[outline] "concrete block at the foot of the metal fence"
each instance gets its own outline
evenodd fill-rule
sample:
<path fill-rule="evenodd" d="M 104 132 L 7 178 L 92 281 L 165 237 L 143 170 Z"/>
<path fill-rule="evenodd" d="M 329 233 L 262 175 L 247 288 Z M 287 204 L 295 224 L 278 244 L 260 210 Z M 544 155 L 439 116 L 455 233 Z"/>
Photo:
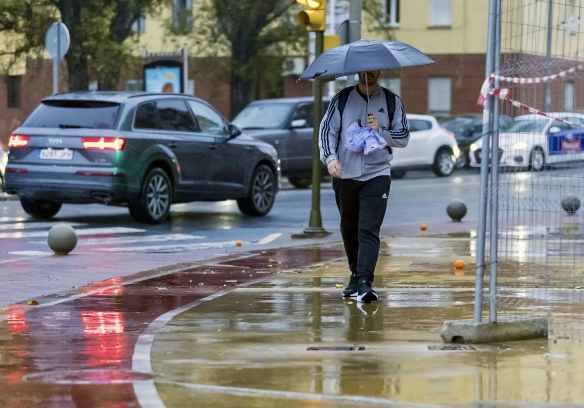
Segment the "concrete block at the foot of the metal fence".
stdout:
<path fill-rule="evenodd" d="M 445 343 L 499 343 L 547 337 L 548 320 L 542 317 L 503 316 L 497 322 L 449 320 L 440 336 Z"/>

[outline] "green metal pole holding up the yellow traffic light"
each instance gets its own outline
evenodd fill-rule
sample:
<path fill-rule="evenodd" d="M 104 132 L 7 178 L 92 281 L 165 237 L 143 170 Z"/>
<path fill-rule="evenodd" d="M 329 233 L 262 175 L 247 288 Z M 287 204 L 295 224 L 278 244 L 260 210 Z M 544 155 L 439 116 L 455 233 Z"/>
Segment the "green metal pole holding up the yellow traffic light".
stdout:
<path fill-rule="evenodd" d="M 317 58 L 322 54 L 324 47 L 324 31 L 315 31 L 315 34 L 314 57 Z M 312 131 L 312 209 L 310 221 L 308 227 L 304 229 L 304 234 L 314 237 L 329 234 L 322 227 L 321 217 L 322 164 L 321 153 L 318 149 L 318 131 L 322 119 L 322 81 L 320 79 L 315 79 L 312 82 L 312 94 L 314 95 L 314 103 L 312 104 L 312 122 L 314 123 Z"/>

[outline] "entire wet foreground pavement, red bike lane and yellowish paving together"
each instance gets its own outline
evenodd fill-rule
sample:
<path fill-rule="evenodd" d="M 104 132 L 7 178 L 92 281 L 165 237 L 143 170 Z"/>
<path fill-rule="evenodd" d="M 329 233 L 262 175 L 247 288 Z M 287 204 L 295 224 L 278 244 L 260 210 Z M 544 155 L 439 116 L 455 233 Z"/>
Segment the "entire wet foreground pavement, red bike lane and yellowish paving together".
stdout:
<path fill-rule="evenodd" d="M 444 344 L 444 321 L 472 318 L 475 243 L 433 232 L 383 239 L 374 304 L 342 298 L 339 242 L 165 258 L 116 277 L 96 264 L 95 283 L 0 309 L 0 407 L 584 404 L 584 291 L 513 286 L 524 276 L 501 265 L 502 296 L 548 316 L 548 339 Z M 56 265 L 79 268 L 73 255 L 12 267 Z"/>

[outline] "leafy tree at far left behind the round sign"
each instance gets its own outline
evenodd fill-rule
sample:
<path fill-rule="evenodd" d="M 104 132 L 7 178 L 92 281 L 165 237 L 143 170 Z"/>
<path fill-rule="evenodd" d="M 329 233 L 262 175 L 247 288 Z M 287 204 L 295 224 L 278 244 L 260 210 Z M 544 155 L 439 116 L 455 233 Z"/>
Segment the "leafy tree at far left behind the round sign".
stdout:
<path fill-rule="evenodd" d="M 144 10 L 154 10 L 166 0 L 2 0 L 0 31 L 12 39 L 0 55 L 16 61 L 22 55 L 41 55 L 44 34 L 61 20 L 71 33 L 65 55 L 69 89 L 86 90 L 89 80 L 100 88 L 114 89 L 130 50 L 126 39 Z M 60 17 L 60 18 L 59 18 Z"/>

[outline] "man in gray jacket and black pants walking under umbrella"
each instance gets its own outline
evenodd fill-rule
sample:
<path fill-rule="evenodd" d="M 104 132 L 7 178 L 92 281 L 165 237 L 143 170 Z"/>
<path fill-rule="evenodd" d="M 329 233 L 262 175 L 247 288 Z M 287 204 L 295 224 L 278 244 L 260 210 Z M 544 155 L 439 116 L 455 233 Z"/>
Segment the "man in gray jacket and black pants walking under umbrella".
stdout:
<path fill-rule="evenodd" d="M 378 300 L 371 284 L 379 255 L 379 231 L 390 192 L 391 147 L 405 147 L 409 142 L 401 99 L 389 93 L 395 98 L 395 104 L 388 103 L 387 90 L 377 83 L 380 72 L 359 72 L 359 83 L 350 92 L 340 91 L 333 97 L 322 119 L 318 138 L 321 160 L 333 177 L 340 233 L 351 272 L 343 296 L 356 296 L 358 302 L 364 303 Z M 393 105 L 395 109 L 390 112 Z M 359 121 L 379 132 L 388 149 L 369 154 L 347 149 L 347 128 Z"/>

